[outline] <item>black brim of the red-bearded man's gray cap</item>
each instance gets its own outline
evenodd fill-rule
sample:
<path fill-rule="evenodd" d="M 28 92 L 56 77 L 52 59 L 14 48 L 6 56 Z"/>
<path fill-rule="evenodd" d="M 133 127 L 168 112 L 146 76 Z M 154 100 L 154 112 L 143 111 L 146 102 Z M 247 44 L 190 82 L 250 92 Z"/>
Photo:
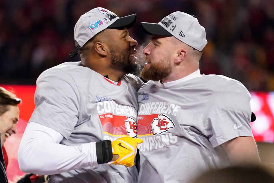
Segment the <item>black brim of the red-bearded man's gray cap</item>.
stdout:
<path fill-rule="evenodd" d="M 141 26 L 143 31 L 149 35 L 162 35 L 162 36 L 173 36 L 169 33 L 164 27 L 159 25 L 158 23 L 148 23 L 148 22 L 141 22 Z"/>

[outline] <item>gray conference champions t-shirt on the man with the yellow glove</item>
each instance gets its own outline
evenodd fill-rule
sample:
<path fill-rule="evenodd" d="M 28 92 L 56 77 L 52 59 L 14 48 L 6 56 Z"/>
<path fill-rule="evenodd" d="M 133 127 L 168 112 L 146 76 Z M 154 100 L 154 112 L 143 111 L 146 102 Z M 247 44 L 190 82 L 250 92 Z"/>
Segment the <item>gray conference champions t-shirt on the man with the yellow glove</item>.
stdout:
<path fill-rule="evenodd" d="M 64 136 L 60 144 L 136 137 L 137 91 L 144 83 L 126 74 L 117 85 L 80 62 L 66 62 L 44 71 L 37 79 L 35 110 L 29 122 Z M 64 156 L 66 156 L 64 154 Z M 137 182 L 136 167 L 100 164 L 51 175 L 49 182 Z"/>

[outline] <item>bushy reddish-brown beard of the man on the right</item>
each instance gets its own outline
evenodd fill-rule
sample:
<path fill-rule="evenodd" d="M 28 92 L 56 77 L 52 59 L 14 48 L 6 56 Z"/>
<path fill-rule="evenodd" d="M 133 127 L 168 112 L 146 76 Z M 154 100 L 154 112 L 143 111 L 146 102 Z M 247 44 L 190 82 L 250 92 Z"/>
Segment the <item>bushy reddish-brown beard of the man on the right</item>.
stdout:
<path fill-rule="evenodd" d="M 161 59 L 159 62 L 150 63 L 149 67 L 144 67 L 141 76 L 142 78 L 153 81 L 159 81 L 168 77 L 172 72 L 171 62 L 167 59 Z"/>

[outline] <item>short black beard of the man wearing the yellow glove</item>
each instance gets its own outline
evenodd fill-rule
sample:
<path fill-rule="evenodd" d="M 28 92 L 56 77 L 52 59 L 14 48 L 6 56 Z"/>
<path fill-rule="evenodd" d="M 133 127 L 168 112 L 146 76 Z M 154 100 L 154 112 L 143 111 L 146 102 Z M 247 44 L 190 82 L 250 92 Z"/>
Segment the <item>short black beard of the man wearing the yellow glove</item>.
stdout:
<path fill-rule="evenodd" d="M 111 53 L 111 66 L 120 71 L 131 74 L 138 74 L 141 70 L 139 63 L 132 63 L 129 57 L 118 50 L 110 50 Z"/>

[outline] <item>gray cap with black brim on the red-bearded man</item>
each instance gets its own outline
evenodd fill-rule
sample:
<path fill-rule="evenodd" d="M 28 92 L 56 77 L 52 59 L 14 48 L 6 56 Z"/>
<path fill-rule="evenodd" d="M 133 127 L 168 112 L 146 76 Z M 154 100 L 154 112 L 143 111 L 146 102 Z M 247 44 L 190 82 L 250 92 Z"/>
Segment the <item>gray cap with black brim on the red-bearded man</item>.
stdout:
<path fill-rule="evenodd" d="M 174 36 L 187 45 L 202 51 L 207 44 L 206 31 L 197 18 L 176 11 L 164 17 L 159 23 L 141 23 L 147 34 Z"/>

